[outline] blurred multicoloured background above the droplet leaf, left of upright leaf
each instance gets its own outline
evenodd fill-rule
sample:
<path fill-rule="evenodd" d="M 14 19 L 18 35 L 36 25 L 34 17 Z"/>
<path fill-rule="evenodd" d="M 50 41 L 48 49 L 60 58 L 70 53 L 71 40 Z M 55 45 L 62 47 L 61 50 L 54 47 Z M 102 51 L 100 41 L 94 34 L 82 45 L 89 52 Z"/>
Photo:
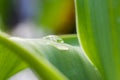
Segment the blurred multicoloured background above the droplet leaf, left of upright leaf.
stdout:
<path fill-rule="evenodd" d="M 74 0 L 0 0 L 0 28 L 26 38 L 76 33 Z"/>

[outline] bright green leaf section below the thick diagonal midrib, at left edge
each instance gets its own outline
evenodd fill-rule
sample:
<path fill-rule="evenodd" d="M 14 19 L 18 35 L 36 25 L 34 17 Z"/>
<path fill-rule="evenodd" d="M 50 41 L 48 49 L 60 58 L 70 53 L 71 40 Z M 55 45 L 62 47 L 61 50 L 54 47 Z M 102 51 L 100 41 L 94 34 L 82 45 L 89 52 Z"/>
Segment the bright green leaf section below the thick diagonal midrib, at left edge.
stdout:
<path fill-rule="evenodd" d="M 0 45 L 0 80 L 6 80 L 26 67 L 27 65 L 8 47 Z"/>

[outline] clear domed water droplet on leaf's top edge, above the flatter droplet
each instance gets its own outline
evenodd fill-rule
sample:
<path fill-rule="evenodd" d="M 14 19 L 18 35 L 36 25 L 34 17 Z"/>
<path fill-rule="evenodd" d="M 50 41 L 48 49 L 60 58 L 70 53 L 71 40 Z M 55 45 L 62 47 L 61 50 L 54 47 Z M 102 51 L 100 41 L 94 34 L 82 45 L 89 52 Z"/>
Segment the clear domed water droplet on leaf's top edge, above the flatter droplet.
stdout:
<path fill-rule="evenodd" d="M 55 35 L 46 36 L 46 37 L 43 37 L 43 39 L 46 39 L 52 42 L 57 42 L 57 43 L 64 43 L 62 38 L 60 38 L 59 36 L 55 36 Z"/>

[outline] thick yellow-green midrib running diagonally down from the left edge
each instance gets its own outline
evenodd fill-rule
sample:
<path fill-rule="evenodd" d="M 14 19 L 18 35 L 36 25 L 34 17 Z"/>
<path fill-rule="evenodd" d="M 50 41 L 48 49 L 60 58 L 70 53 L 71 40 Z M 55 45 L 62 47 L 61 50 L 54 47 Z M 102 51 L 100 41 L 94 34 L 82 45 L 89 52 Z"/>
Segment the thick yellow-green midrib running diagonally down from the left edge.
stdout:
<path fill-rule="evenodd" d="M 18 45 L 17 40 L 21 44 Z M 41 54 L 39 54 L 39 56 L 36 49 L 34 50 L 34 47 L 30 47 L 31 44 L 28 44 L 27 41 L 19 38 L 16 38 L 15 41 L 16 42 L 13 42 L 11 39 L 0 35 L 0 44 L 7 46 L 14 54 L 17 54 L 23 60 L 28 62 L 31 68 L 33 68 L 43 80 L 67 80 L 67 78 L 52 66 L 48 60 L 41 56 Z M 24 42 L 26 42 L 26 44 Z"/>

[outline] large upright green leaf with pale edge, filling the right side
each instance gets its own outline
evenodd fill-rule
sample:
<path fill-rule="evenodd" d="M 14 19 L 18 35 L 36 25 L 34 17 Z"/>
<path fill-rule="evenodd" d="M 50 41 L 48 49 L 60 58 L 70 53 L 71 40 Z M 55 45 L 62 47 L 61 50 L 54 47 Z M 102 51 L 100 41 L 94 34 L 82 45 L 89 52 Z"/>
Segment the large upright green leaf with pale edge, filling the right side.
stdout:
<path fill-rule="evenodd" d="M 80 44 L 104 80 L 120 80 L 120 0 L 76 0 Z"/>

